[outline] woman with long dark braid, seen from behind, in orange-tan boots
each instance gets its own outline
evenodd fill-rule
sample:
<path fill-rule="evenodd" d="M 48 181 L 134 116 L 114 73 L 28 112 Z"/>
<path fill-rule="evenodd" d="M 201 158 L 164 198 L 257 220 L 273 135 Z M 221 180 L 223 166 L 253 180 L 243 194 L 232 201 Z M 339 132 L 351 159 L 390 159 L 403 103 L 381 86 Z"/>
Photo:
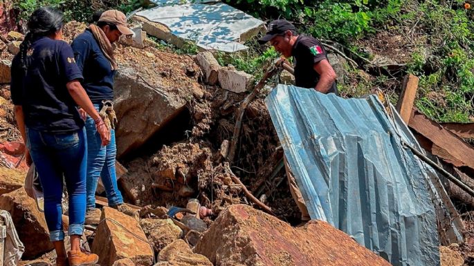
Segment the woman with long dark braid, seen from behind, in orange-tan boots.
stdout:
<path fill-rule="evenodd" d="M 82 73 L 73 50 L 62 41 L 63 17 L 53 8 L 39 8 L 28 21 L 28 33 L 12 61 L 11 94 L 17 124 L 44 192 L 44 216 L 54 244 L 57 265 L 97 263 L 98 256 L 80 250 L 86 210 L 86 135 L 80 106 L 93 117 L 102 145 L 110 132 L 80 84 Z M 71 251 L 64 249 L 63 177 L 69 193 Z"/>

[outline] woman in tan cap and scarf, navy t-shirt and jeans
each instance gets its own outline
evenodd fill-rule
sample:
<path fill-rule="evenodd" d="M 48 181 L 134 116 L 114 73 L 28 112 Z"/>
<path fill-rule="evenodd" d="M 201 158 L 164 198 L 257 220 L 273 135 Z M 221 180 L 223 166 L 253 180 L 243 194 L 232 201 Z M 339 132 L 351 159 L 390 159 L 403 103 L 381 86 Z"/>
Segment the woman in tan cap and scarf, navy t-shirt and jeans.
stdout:
<path fill-rule="evenodd" d="M 86 224 L 89 225 L 97 225 L 100 222 L 100 210 L 95 209 L 95 189 L 99 177 L 104 184 L 109 206 L 131 216 L 136 214 L 136 211 L 123 204 L 122 194 L 117 187 L 114 131 L 116 117 L 112 104 L 113 77 L 117 70 L 112 44 L 118 41 L 121 35 L 132 34 L 122 12 L 107 10 L 100 15 L 96 24 L 91 24 L 72 44 L 75 61 L 84 76 L 82 86 L 95 109 L 111 128 L 111 141 L 107 146 L 102 146 L 93 120 L 83 113 L 87 134 Z"/>

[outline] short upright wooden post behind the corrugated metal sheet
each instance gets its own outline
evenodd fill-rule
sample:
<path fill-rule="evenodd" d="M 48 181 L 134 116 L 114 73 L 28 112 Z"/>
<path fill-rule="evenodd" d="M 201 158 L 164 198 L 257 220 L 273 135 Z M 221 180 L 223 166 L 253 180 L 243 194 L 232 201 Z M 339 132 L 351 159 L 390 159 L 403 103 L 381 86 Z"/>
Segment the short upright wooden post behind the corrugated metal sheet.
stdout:
<path fill-rule="evenodd" d="M 414 97 L 417 96 L 419 77 L 409 74 L 403 79 L 403 87 L 399 102 L 396 104 L 396 111 L 399 112 L 401 119 L 408 124 L 414 104 Z"/>

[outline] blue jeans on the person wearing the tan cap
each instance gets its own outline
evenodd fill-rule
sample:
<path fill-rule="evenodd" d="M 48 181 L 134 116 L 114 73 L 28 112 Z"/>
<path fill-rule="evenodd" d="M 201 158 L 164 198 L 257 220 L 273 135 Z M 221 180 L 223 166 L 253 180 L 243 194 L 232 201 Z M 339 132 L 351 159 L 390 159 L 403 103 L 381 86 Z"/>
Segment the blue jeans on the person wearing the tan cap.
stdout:
<path fill-rule="evenodd" d="M 99 111 L 99 105 L 94 104 Z M 115 161 L 117 146 L 115 142 L 115 131 L 111 130 L 110 143 L 102 146 L 100 135 L 95 129 L 94 120 L 88 115 L 86 119 L 87 133 L 87 209 L 95 208 L 95 189 L 99 182 L 99 176 L 104 184 L 105 193 L 109 206 L 113 207 L 123 203 L 122 193 L 117 187 Z"/>

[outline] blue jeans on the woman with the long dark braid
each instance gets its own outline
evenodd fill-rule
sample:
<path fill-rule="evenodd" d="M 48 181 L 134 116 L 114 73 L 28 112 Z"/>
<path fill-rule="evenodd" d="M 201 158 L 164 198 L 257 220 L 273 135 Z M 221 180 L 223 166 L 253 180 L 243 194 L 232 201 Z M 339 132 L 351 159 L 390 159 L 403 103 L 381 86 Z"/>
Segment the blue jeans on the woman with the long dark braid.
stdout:
<path fill-rule="evenodd" d="M 46 133 L 26 129 L 26 146 L 35 163 L 44 193 L 44 217 L 51 241 L 64 239 L 63 176 L 69 193 L 69 235 L 82 235 L 86 216 L 86 134 Z"/>

